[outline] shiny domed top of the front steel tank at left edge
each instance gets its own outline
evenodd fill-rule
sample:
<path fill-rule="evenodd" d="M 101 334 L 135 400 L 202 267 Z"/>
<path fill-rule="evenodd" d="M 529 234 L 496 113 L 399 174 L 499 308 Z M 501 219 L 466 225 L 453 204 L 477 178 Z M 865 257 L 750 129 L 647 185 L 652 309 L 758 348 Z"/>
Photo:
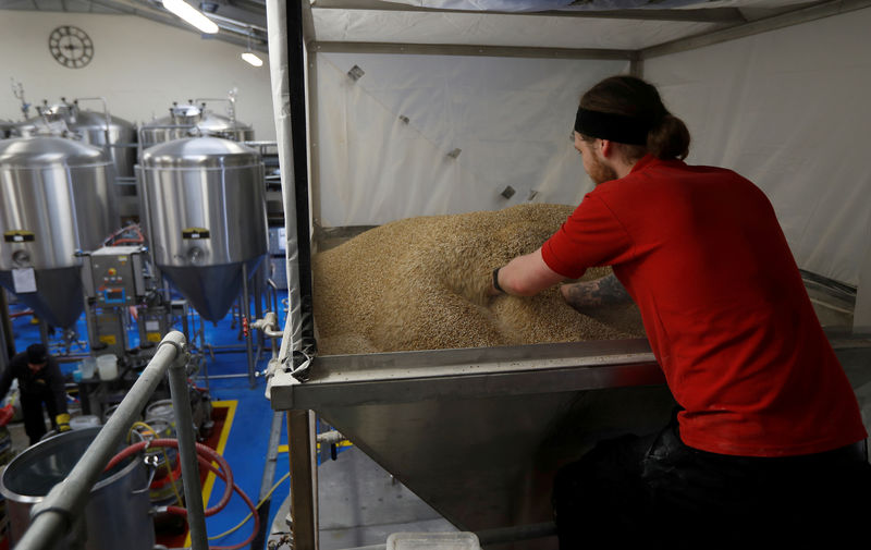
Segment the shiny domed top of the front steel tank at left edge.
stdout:
<path fill-rule="evenodd" d="M 109 164 L 103 150 L 63 137 L 15 137 L 0 142 L 0 166 L 39 168 L 62 164 L 71 168 Z"/>

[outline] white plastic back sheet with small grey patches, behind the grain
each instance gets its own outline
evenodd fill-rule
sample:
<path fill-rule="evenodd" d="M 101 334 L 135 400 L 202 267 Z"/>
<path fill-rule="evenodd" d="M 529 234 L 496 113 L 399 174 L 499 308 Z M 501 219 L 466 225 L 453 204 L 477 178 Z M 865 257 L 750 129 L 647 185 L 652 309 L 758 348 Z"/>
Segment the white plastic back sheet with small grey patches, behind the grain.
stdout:
<path fill-rule="evenodd" d="M 578 204 L 592 184 L 574 149 L 578 94 L 619 61 L 319 54 L 323 227 Z M 365 74 L 354 82 L 354 65 Z M 407 118 L 404 122 L 401 117 Z M 456 158 L 450 156 L 459 149 Z M 456 155 L 456 154 L 455 154 Z M 505 199 L 511 186 L 516 194 Z"/>

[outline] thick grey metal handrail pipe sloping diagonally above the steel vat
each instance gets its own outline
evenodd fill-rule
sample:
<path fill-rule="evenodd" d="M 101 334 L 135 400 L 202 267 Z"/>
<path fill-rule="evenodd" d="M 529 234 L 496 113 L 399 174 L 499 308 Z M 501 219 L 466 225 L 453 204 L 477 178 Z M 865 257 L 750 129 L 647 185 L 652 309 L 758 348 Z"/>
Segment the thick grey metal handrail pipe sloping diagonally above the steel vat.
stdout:
<path fill-rule="evenodd" d="M 118 451 L 134 419 L 145 408 L 170 363 L 180 357 L 184 343 L 184 337 L 177 331 L 163 338 L 148 366 L 66 479 L 56 485 L 41 502 L 34 505 L 30 511 L 30 527 L 19 541 L 16 550 L 46 550 L 70 531 L 75 517 L 85 508 L 91 487 Z"/>

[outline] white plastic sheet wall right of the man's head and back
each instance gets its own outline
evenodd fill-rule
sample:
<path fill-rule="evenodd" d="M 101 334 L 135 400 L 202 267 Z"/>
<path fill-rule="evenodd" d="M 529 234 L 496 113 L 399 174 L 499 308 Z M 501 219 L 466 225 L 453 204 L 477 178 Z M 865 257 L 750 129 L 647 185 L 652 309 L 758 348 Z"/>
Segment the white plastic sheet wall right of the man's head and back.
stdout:
<path fill-rule="evenodd" d="M 689 161 L 771 198 L 798 265 L 859 280 L 869 239 L 871 10 L 645 63 L 689 125 Z"/>

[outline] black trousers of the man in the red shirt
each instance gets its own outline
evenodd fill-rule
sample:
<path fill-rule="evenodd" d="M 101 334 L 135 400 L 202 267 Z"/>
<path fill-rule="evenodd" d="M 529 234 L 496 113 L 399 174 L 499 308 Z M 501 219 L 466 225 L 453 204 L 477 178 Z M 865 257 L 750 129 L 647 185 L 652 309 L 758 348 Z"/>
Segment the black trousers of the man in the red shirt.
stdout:
<path fill-rule="evenodd" d="M 560 548 L 869 548 L 863 445 L 728 456 L 685 445 L 676 421 L 602 441 L 554 480 Z"/>

